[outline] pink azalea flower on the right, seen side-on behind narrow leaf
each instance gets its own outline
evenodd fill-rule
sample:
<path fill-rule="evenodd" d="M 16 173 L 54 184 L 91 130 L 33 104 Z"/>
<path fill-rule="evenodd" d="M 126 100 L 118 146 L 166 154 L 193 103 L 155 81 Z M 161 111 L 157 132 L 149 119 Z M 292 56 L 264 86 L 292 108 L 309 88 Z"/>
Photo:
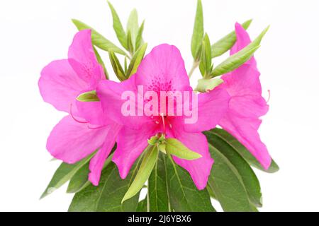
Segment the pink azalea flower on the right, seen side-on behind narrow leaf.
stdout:
<path fill-rule="evenodd" d="M 237 42 L 230 54 L 235 54 L 251 42 L 246 30 L 239 23 L 236 23 L 235 31 Z M 218 88 L 227 90 L 231 99 L 228 112 L 219 125 L 245 145 L 262 167 L 268 169 L 272 158 L 257 131 L 262 122 L 259 117 L 266 114 L 269 108 L 262 97 L 259 75 L 256 61 L 252 57 L 240 68 L 222 76 L 224 83 Z"/>

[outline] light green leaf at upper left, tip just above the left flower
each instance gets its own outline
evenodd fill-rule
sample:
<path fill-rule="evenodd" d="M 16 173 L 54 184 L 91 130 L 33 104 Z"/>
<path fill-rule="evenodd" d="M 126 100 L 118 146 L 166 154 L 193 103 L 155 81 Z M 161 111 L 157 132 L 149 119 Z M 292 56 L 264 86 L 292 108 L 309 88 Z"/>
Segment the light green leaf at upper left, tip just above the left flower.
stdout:
<path fill-rule="evenodd" d="M 107 52 L 111 51 L 111 52 L 116 52 L 118 54 L 126 55 L 122 49 L 117 47 L 110 40 L 107 40 L 105 37 L 99 34 L 99 32 L 96 32 L 96 30 L 91 28 L 89 25 L 86 25 L 85 23 L 76 19 L 72 19 L 72 22 L 74 23 L 74 25 L 77 26 L 77 29 L 79 30 L 85 30 L 85 29 L 91 30 L 92 44 L 94 44 L 96 47 L 99 47 L 100 49 L 103 49 Z"/>

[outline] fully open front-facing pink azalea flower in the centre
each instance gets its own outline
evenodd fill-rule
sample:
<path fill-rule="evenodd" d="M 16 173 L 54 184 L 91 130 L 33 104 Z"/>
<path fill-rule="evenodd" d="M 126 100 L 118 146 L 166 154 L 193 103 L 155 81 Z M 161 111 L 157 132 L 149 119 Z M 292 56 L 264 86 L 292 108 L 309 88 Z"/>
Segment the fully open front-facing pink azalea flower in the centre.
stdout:
<path fill-rule="evenodd" d="M 124 116 L 121 112 L 125 100 L 121 95 L 125 91 L 138 93 L 138 85 L 143 90 L 186 91 L 191 90 L 189 78 L 185 71 L 184 61 L 179 50 L 168 44 L 162 44 L 142 60 L 138 71 L 122 83 L 101 81 L 96 92 L 102 102 L 104 112 L 123 129 L 118 134 L 118 148 L 113 162 L 118 166 L 121 178 L 125 178 L 133 162 L 147 147 L 147 139 L 157 133 L 166 137 L 177 138 L 187 148 L 199 153 L 197 160 L 181 160 L 173 157 L 178 165 L 191 174 L 198 189 L 204 189 L 211 172 L 213 159 L 208 152 L 206 137 L 201 131 L 212 129 L 218 124 L 228 109 L 229 95 L 225 90 L 213 90 L 198 95 L 198 120 L 194 124 L 185 124 L 185 117 L 177 116 Z M 136 107 L 138 111 L 138 106 Z"/>

